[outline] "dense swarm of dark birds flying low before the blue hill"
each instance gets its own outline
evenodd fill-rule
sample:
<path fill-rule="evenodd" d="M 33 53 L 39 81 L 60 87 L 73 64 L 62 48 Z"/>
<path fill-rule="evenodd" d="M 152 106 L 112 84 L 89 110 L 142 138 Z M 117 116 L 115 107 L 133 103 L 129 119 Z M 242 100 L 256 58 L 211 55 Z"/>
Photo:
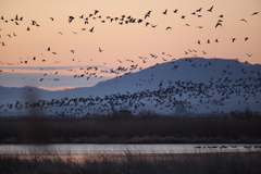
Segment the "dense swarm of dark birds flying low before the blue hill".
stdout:
<path fill-rule="evenodd" d="M 186 64 L 175 65 L 175 62 L 169 63 L 169 69 L 178 71 L 179 69 L 198 70 L 196 67 L 212 70 L 215 61 L 203 60 L 203 64 L 194 62 L 194 59 L 185 59 Z M 175 111 L 177 107 L 183 107 L 185 110 L 197 112 L 199 107 L 206 107 L 210 113 L 225 113 L 222 108 L 229 99 L 234 99 L 237 104 L 247 104 L 256 102 L 259 104 L 261 94 L 261 73 L 260 71 L 249 71 L 238 61 L 229 61 L 231 64 L 224 64 L 223 70 L 220 70 L 217 77 L 209 78 L 208 83 L 196 83 L 192 80 L 162 80 L 158 84 L 158 89 L 144 89 L 136 92 L 116 92 L 112 95 L 89 96 L 79 98 L 62 98 L 51 100 L 39 100 L 36 102 L 20 102 L 15 104 L 2 104 L 0 111 L 8 112 L 9 110 L 25 111 L 39 109 L 48 111 L 51 115 L 90 115 L 90 114 L 108 114 L 116 110 L 132 111 L 134 114 L 146 105 L 152 104 L 154 109 Z M 217 63 L 217 62 L 216 62 Z M 234 64 L 241 65 L 241 70 L 231 70 Z M 161 65 L 159 65 L 161 66 Z M 175 70 L 173 67 L 175 66 Z M 152 69 L 152 67 L 151 67 Z M 162 69 L 161 69 L 162 70 Z M 214 70 L 213 70 L 214 71 Z M 153 74 L 151 74 L 153 75 Z M 233 76 L 234 75 L 234 76 Z M 235 76 L 237 78 L 235 78 Z M 239 78 L 238 78 L 239 76 Z M 119 79 L 121 80 L 121 79 Z M 139 79 L 141 83 L 148 84 L 153 80 L 153 76 L 148 77 L 148 82 Z M 238 100 L 238 101 L 236 101 Z M 195 103 L 197 103 L 195 105 Z M 213 109 L 213 105 L 216 109 Z M 149 112 L 148 112 L 149 114 Z"/>

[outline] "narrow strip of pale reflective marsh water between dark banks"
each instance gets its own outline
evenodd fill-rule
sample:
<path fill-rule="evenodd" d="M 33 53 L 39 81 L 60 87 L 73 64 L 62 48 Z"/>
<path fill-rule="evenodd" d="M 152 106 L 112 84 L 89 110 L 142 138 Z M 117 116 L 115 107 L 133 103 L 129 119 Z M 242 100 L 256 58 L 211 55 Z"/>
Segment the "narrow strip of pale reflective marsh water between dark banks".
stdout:
<path fill-rule="evenodd" d="M 249 152 L 261 151 L 261 145 L 247 144 L 52 144 L 52 145 L 0 145 L 2 154 L 29 153 L 197 153 L 197 152 Z"/>

